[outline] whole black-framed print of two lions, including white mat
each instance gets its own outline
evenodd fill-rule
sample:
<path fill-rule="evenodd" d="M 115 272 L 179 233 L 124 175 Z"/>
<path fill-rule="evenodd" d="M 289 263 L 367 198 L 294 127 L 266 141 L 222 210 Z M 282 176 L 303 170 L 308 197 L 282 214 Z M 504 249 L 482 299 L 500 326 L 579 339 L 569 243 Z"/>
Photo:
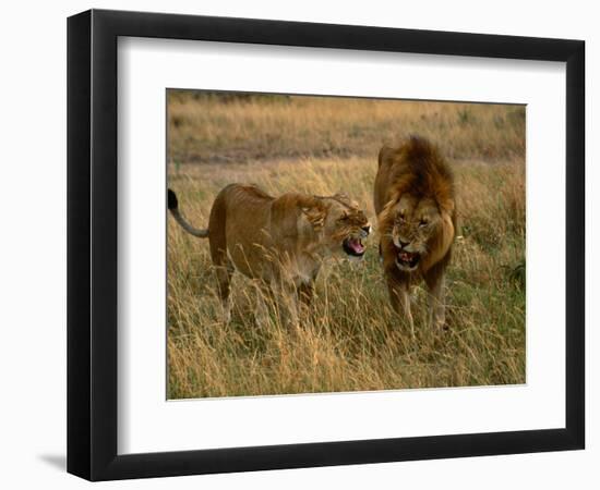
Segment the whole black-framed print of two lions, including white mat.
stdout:
<path fill-rule="evenodd" d="M 578 40 L 68 23 L 68 470 L 584 448 Z"/>

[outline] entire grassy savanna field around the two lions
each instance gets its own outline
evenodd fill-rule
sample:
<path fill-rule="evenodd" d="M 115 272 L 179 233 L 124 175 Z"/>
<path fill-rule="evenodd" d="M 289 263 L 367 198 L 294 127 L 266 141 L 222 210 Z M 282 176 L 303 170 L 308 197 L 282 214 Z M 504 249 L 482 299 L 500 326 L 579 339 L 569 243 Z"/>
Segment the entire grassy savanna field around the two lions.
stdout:
<path fill-rule="evenodd" d="M 416 340 L 389 309 L 376 234 L 361 262 L 326 265 L 303 328 L 254 319 L 257 291 L 233 280 L 225 326 L 208 242 L 168 222 L 170 399 L 525 382 L 525 110 L 516 106 L 314 97 L 228 98 L 170 91 L 169 186 L 205 226 L 232 182 L 266 192 L 344 191 L 375 217 L 372 187 L 383 143 L 420 134 L 457 182 L 459 236 L 448 269 L 447 331 Z"/>

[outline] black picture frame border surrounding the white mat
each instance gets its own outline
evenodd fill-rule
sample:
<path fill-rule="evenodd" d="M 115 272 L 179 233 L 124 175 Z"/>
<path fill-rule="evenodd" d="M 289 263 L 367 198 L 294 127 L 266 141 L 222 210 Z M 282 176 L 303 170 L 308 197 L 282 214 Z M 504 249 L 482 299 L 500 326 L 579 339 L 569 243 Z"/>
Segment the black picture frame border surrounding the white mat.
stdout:
<path fill-rule="evenodd" d="M 117 454 L 119 36 L 566 62 L 564 428 Z M 92 10 L 68 20 L 68 471 L 89 480 L 584 449 L 585 42 Z"/>

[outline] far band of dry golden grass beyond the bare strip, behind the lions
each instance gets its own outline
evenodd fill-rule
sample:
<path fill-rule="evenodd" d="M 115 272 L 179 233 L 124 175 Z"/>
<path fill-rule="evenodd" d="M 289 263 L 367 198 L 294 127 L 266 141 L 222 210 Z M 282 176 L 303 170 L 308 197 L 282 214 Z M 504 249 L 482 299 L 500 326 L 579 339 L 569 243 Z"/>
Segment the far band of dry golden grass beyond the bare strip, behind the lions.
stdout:
<path fill-rule="evenodd" d="M 335 97 L 227 99 L 169 96 L 169 160 L 240 162 L 275 158 L 371 157 L 417 133 L 449 158 L 525 155 L 525 108 Z M 473 131 L 477 130 L 477 131 Z"/>

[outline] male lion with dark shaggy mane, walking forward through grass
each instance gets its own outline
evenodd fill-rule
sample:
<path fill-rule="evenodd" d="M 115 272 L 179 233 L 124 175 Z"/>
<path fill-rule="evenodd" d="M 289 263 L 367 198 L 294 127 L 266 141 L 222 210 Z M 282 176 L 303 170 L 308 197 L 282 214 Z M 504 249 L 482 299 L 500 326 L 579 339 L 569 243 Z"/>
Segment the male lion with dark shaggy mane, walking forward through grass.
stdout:
<path fill-rule="evenodd" d="M 444 275 L 456 233 L 454 179 L 439 150 L 412 136 L 384 146 L 375 177 L 380 253 L 393 308 L 415 335 L 410 285 L 423 279 L 430 292 L 428 323 L 445 323 Z"/>

